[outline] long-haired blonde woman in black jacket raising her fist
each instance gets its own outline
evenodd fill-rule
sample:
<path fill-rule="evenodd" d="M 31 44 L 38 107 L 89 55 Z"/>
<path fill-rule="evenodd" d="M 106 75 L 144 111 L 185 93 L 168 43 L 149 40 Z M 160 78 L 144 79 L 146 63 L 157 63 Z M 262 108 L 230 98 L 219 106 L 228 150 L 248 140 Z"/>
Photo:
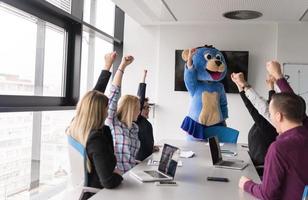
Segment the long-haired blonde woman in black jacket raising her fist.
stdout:
<path fill-rule="evenodd" d="M 103 71 L 109 71 L 115 57 L 115 52 L 105 55 Z M 114 188 L 123 180 L 116 170 L 111 131 L 104 125 L 108 112 L 108 98 L 103 94 L 107 78 L 102 72 L 96 90 L 87 92 L 78 102 L 76 116 L 66 130 L 66 134 L 85 147 L 88 157 L 86 186 L 95 188 Z M 83 199 L 89 196 L 86 194 Z"/>

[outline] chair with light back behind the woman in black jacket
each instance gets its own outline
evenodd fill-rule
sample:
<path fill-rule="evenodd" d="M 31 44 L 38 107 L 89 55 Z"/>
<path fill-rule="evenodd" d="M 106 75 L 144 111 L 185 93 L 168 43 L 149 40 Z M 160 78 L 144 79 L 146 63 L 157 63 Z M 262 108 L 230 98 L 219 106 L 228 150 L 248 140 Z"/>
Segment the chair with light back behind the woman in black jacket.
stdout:
<path fill-rule="evenodd" d="M 70 199 L 82 199 L 82 196 L 86 192 L 97 193 L 100 189 L 86 187 L 87 185 L 87 156 L 85 148 L 73 137 L 67 136 L 68 139 L 68 152 L 71 165 L 70 183 L 74 198 Z M 76 198 L 77 197 L 77 198 Z"/>

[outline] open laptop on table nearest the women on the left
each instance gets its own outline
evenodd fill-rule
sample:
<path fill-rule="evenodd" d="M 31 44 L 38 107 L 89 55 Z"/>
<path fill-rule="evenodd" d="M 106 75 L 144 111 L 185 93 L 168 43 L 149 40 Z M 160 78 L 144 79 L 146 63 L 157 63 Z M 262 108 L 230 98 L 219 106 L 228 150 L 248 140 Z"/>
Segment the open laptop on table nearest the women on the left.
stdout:
<path fill-rule="evenodd" d="M 142 182 L 170 181 L 175 176 L 178 165 L 179 149 L 164 144 L 158 170 L 131 170 L 130 174 Z"/>

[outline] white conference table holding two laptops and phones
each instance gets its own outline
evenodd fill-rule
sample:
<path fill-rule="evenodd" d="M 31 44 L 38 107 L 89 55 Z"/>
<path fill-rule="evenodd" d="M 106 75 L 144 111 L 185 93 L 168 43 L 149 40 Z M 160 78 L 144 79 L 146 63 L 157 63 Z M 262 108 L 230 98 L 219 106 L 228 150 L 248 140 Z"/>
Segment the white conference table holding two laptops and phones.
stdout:
<path fill-rule="evenodd" d="M 223 144 L 221 149 L 228 149 L 237 152 L 236 156 L 223 159 L 243 160 L 249 165 L 243 170 L 216 168 L 212 164 L 210 149 L 207 143 L 197 141 L 166 140 L 160 144 L 170 144 L 181 149 L 181 151 L 193 151 L 192 158 L 180 158 L 182 166 L 178 166 L 174 181 L 177 186 L 157 186 L 155 183 L 142 183 L 133 177 L 129 172 L 123 175 L 122 184 L 115 189 L 102 189 L 95 194 L 91 200 L 246 200 L 256 199 L 238 187 L 241 176 L 247 176 L 256 182 L 260 178 L 248 155 L 247 148 L 240 144 Z M 149 166 L 148 160 L 160 159 L 160 152 L 152 154 L 146 160 L 131 170 L 157 169 L 158 166 Z M 207 181 L 208 176 L 226 177 L 229 182 Z"/>

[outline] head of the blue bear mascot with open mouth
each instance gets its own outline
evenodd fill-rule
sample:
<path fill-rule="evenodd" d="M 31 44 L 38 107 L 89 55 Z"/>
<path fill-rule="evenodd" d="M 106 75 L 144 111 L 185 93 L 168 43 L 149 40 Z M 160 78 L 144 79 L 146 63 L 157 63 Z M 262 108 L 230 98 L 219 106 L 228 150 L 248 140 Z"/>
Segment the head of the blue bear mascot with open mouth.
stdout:
<path fill-rule="evenodd" d="M 183 51 L 182 58 L 187 61 L 188 49 Z M 200 81 L 221 81 L 226 76 L 227 64 L 225 58 L 212 45 L 196 48 L 192 60 L 197 70 L 197 79 Z"/>

